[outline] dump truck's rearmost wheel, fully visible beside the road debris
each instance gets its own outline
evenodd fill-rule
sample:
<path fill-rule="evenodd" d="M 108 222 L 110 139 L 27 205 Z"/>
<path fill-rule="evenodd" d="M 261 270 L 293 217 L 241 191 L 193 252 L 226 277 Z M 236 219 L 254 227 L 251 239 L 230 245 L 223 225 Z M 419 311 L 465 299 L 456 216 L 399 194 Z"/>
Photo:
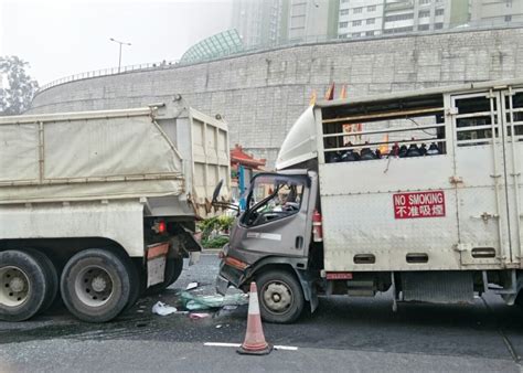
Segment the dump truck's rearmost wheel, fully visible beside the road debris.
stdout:
<path fill-rule="evenodd" d="M 105 249 L 90 248 L 73 256 L 60 284 L 67 309 L 87 322 L 106 322 L 124 310 L 131 296 L 128 266 Z"/>

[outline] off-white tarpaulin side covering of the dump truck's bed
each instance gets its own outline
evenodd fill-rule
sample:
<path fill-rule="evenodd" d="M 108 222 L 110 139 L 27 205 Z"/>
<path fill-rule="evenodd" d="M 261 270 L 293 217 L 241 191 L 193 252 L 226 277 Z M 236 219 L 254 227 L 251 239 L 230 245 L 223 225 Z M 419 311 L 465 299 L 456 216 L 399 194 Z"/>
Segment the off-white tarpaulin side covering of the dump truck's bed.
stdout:
<path fill-rule="evenodd" d="M 129 113 L 3 118 L 0 203 L 179 194 L 182 167 L 173 145 L 150 111 Z"/>

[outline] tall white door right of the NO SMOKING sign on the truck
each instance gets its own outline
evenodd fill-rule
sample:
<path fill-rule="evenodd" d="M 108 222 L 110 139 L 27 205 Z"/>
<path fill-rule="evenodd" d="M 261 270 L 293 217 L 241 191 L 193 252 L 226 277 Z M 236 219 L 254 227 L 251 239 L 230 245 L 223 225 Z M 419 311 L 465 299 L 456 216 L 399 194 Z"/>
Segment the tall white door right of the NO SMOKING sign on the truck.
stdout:
<path fill-rule="evenodd" d="M 515 260 L 504 106 L 499 90 L 451 97 L 456 145 L 451 182 L 458 203 L 457 248 L 465 266 L 510 265 Z"/>

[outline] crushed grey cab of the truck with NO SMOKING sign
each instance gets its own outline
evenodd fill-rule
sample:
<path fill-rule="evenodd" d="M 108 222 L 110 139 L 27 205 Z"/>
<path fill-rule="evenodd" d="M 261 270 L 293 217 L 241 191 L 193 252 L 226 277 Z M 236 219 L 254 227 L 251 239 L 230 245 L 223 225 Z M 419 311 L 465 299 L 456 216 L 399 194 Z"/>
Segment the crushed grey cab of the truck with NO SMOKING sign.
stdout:
<path fill-rule="evenodd" d="M 305 301 L 317 305 L 309 268 L 317 190 L 314 171 L 253 178 L 248 209 L 235 222 L 230 244 L 223 249 L 218 292 L 225 294 L 230 284 L 246 290 L 256 274 L 266 320 L 278 322 L 281 315 L 296 319 Z"/>

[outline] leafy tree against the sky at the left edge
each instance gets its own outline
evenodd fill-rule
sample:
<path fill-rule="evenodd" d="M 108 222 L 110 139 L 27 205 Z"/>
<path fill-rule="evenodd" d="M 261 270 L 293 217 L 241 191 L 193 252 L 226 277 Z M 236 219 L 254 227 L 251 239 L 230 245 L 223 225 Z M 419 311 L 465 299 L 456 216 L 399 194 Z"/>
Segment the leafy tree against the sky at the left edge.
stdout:
<path fill-rule="evenodd" d="M 30 107 L 39 84 L 26 67 L 29 63 L 14 55 L 0 57 L 0 115 L 22 114 Z"/>

